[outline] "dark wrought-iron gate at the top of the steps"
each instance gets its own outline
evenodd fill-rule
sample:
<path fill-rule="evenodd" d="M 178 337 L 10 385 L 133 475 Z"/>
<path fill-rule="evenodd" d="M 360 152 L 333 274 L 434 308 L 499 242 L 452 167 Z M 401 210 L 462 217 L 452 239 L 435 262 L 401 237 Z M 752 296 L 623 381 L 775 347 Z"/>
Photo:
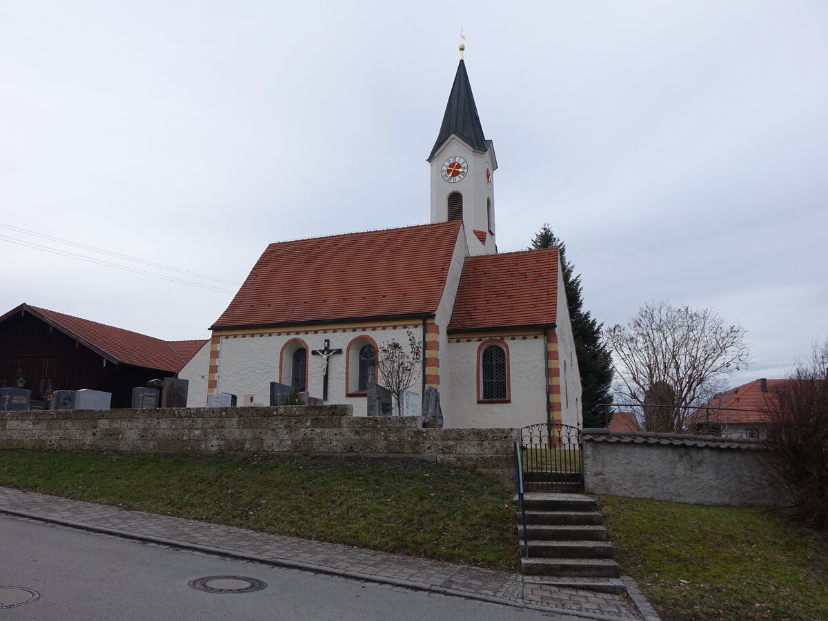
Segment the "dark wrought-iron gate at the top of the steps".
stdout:
<path fill-rule="evenodd" d="M 520 430 L 523 488 L 527 492 L 584 489 L 580 429 L 542 422 Z"/>

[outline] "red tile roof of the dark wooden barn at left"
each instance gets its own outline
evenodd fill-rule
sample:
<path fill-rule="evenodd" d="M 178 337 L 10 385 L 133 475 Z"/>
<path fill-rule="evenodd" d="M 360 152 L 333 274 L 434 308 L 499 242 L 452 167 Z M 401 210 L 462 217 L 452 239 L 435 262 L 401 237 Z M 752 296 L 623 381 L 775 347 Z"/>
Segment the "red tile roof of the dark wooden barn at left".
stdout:
<path fill-rule="evenodd" d="M 19 310 L 26 310 L 54 325 L 66 335 L 94 349 L 113 363 L 134 364 L 139 367 L 157 368 L 178 373 L 195 355 L 206 340 L 166 341 L 141 335 L 130 330 L 115 328 L 75 317 L 22 304 L 2 319 Z"/>

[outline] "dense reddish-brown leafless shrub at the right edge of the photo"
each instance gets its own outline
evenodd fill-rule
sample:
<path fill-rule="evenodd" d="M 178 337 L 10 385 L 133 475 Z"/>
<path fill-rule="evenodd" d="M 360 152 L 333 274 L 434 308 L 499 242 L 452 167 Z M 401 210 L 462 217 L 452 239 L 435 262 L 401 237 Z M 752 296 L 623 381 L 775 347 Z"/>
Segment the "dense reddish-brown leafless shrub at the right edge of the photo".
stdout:
<path fill-rule="evenodd" d="M 802 522 L 828 531 L 828 340 L 772 389 L 762 451 L 768 476 Z"/>

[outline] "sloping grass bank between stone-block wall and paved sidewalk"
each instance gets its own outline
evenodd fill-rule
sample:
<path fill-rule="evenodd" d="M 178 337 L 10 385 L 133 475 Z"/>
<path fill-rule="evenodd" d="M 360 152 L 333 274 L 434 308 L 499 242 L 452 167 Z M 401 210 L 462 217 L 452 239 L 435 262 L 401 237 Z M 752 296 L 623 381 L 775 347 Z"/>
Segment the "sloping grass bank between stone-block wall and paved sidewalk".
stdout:
<path fill-rule="evenodd" d="M 512 490 L 418 460 L 3 450 L 0 485 L 492 569 L 520 565 Z"/>

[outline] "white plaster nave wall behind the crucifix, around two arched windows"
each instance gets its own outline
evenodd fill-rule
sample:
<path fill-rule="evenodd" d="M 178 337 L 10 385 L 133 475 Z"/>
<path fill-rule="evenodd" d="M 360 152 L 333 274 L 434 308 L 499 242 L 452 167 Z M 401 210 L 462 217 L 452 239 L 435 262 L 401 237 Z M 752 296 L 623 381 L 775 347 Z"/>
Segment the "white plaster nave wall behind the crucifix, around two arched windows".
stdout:
<path fill-rule="evenodd" d="M 398 324 L 399 325 L 399 324 Z M 358 339 L 366 339 L 377 347 L 383 347 L 392 339 L 407 347 L 407 330 L 411 330 L 417 339 L 421 339 L 422 327 L 420 323 L 409 321 L 408 328 L 397 327 L 393 329 L 390 325 L 372 325 L 365 330 L 352 332 L 350 329 L 336 328 L 302 330 L 296 332 L 282 333 L 256 332 L 253 334 L 222 335 L 219 340 L 219 373 L 217 378 L 216 392 L 230 392 L 238 397 L 245 394 L 253 394 L 254 402 L 268 405 L 270 402 L 270 383 L 290 383 L 290 377 L 285 373 L 280 376 L 279 359 L 282 347 L 293 339 L 302 339 L 308 347 L 307 385 L 311 397 L 322 398 L 323 394 L 323 359 L 321 356 L 310 354 L 313 349 L 322 349 L 325 339 L 330 341 L 331 349 L 342 349 L 341 354 L 332 354 L 328 359 L 328 400 L 329 405 L 345 404 L 354 407 L 354 416 L 367 416 L 367 399 L 364 395 L 346 395 L 346 373 L 351 368 L 351 376 L 355 377 L 352 367 L 354 360 L 359 359 Z M 325 333 L 324 330 L 327 330 Z M 264 336 L 260 336 L 264 334 Z M 272 334 L 272 336 L 270 335 Z M 354 346 L 349 352 L 349 344 Z M 350 362 L 348 360 L 350 355 Z M 354 355 L 356 354 L 356 355 Z M 289 368 L 288 361 L 285 361 L 285 369 Z M 382 383 L 382 380 L 379 380 Z M 353 383 L 353 382 L 352 382 Z M 349 387 L 352 391 L 353 386 Z M 414 384 L 409 388 L 412 392 L 422 397 L 421 374 L 418 372 Z"/>

